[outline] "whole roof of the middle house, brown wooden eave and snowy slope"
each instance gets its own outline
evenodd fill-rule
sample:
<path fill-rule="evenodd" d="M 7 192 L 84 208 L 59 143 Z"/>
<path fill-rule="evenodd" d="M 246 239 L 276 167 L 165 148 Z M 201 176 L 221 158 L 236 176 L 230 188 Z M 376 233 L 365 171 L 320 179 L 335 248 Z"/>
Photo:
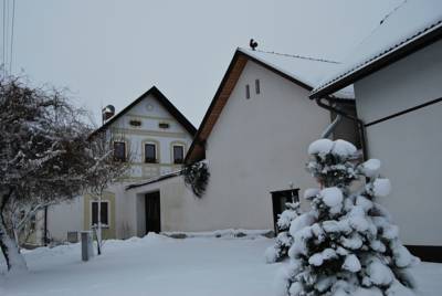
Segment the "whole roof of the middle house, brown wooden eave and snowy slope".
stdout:
<path fill-rule="evenodd" d="M 248 61 L 255 62 L 307 91 L 312 91 L 320 77 L 336 70 L 339 65 L 337 62 L 322 59 L 236 49 L 228 71 L 193 138 L 192 145 L 186 155 L 186 163 L 199 161 L 206 157 L 204 142 L 209 138 Z M 352 98 L 352 87 L 343 89 L 335 94 L 335 96 L 339 98 Z"/>

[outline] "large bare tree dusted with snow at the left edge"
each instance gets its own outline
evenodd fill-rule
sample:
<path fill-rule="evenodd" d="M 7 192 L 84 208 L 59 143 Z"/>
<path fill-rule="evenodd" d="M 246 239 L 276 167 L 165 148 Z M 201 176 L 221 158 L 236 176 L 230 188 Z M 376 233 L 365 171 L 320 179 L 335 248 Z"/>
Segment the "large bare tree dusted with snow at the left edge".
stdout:
<path fill-rule="evenodd" d="M 90 128 L 63 93 L 0 77 L 0 250 L 8 271 L 27 269 L 17 244 L 17 219 L 73 199 L 88 182 L 95 159 Z M 10 207 L 13 203 L 13 207 Z M 20 222 L 21 223 L 21 222 Z"/>

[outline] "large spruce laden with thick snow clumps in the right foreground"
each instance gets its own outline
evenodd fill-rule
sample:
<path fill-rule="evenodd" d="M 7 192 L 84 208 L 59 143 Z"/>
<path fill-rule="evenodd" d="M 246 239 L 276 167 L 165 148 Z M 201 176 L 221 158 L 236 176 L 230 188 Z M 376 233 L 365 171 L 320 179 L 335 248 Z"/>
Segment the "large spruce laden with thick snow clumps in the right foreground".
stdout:
<path fill-rule="evenodd" d="M 294 241 L 283 273 L 291 296 L 413 295 L 407 268 L 419 260 L 398 239 L 398 226 L 376 203 L 390 183 L 379 178 L 380 161 L 357 160 L 344 140 L 314 141 L 307 169 L 320 184 L 305 194 L 312 210 L 292 221 Z M 360 190 L 352 181 L 367 179 Z M 400 289 L 399 294 L 391 294 Z"/>

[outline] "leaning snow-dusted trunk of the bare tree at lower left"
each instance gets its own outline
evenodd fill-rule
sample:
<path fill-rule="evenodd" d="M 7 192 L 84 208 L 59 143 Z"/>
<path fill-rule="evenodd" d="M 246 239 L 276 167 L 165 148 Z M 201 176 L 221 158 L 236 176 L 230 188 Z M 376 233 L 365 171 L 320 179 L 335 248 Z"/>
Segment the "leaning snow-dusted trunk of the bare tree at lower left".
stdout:
<path fill-rule="evenodd" d="M 9 273 L 28 271 L 27 263 L 15 241 L 8 235 L 3 216 L 0 213 L 0 249 L 7 262 Z"/>

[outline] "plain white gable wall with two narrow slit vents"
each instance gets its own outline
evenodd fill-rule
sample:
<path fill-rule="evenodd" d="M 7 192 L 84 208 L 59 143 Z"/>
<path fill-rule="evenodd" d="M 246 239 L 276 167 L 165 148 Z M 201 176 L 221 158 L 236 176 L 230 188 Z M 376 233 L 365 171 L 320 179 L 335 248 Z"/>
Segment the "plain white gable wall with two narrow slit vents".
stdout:
<path fill-rule="evenodd" d="M 207 141 L 211 179 L 204 199 L 214 210 L 207 226 L 217 228 L 217 218 L 224 228 L 273 229 L 270 192 L 291 182 L 301 193 L 316 186 L 305 171 L 307 147 L 329 121 L 308 91 L 248 62 Z"/>

